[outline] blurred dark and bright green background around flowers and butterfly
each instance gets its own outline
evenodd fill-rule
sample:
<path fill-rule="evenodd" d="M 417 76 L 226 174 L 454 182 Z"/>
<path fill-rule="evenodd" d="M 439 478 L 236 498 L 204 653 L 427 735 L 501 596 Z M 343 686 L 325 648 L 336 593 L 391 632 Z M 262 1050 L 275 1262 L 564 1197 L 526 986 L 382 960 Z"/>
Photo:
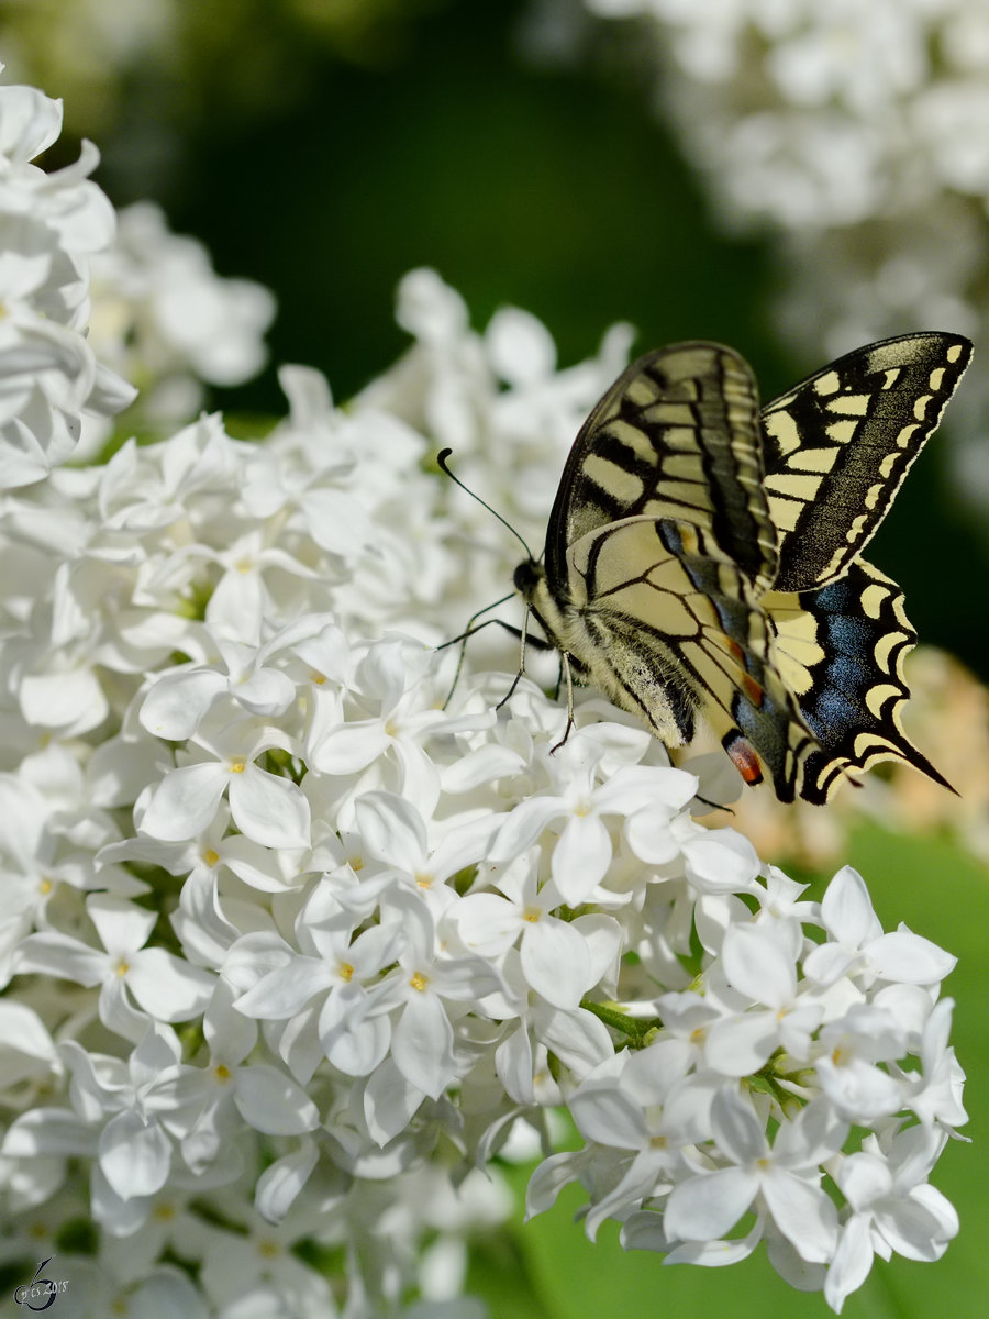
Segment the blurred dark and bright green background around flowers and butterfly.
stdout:
<path fill-rule="evenodd" d="M 222 274 L 276 293 L 273 365 L 241 389 L 215 390 L 211 405 L 281 413 L 282 361 L 320 367 L 345 400 L 402 351 L 393 294 L 418 265 L 463 293 L 479 327 L 506 303 L 535 313 L 562 364 L 593 352 L 614 321 L 638 327 L 638 350 L 694 336 L 734 346 L 766 397 L 824 361 L 796 360 L 781 342 L 770 244 L 716 230 L 650 111 L 629 33 L 601 41 L 588 26 L 568 62 L 547 66 L 521 54 L 530 12 L 521 0 L 102 8 L 104 29 L 94 36 L 92 0 L 0 0 L 0 45 L 9 36 L 15 77 L 66 99 L 66 133 L 49 168 L 92 137 L 103 153 L 98 178 L 117 206 L 158 200 L 173 230 L 208 245 Z M 120 55 L 125 40 L 137 54 Z M 61 62 L 47 65 L 57 49 Z M 961 514 L 944 467 L 935 439 L 870 557 L 903 586 L 920 638 L 985 678 L 989 538 Z M 886 927 L 906 919 L 963 956 L 948 991 L 961 1002 L 969 1104 L 984 1113 L 984 867 L 947 844 L 924 849 L 878 830 L 858 836 L 851 860 Z M 980 1140 L 981 1121 L 967 1133 Z M 985 1311 L 982 1167 L 978 1145 L 947 1151 L 938 1182 L 961 1213 L 960 1241 L 932 1268 L 878 1268 L 847 1315 Z M 764 1260 L 665 1270 L 649 1256 L 620 1257 L 612 1237 L 603 1233 L 593 1249 L 556 1213 L 491 1242 L 475 1281 L 492 1319 L 825 1312 L 819 1297 L 774 1281 Z"/>

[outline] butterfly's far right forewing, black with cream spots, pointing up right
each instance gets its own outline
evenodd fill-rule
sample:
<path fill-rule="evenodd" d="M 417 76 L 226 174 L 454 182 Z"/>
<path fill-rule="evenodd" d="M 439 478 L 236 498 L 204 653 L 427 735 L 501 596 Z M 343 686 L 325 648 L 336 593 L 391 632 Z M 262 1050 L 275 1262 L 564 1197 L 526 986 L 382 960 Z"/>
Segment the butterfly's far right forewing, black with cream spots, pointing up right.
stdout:
<path fill-rule="evenodd" d="M 971 356 L 959 335 L 886 339 L 849 352 L 764 409 L 778 591 L 825 586 L 861 554 Z"/>

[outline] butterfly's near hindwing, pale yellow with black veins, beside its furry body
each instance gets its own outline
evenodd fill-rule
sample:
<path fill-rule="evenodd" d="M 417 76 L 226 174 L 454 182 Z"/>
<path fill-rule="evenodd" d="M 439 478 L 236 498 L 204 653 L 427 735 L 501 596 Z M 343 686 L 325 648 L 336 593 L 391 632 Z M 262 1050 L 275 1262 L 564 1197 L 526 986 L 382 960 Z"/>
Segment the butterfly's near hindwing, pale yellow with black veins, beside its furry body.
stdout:
<path fill-rule="evenodd" d="M 727 743 L 748 740 L 791 799 L 811 739 L 769 662 L 757 591 L 713 532 L 625 518 L 582 537 L 568 561 L 585 629 L 568 642 L 588 681 L 667 745 L 691 740 L 696 714 Z"/>

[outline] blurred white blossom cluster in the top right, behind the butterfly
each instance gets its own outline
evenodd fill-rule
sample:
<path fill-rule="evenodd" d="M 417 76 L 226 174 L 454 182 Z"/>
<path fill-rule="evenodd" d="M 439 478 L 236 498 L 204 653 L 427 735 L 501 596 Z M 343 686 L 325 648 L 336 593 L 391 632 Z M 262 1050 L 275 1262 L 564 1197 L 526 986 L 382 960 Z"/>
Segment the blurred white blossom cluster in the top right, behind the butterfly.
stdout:
<path fill-rule="evenodd" d="M 989 0 L 583 0 L 653 21 L 658 100 L 729 226 L 769 227 L 808 360 L 920 326 L 989 334 Z M 952 414 L 989 505 L 989 392 Z"/>

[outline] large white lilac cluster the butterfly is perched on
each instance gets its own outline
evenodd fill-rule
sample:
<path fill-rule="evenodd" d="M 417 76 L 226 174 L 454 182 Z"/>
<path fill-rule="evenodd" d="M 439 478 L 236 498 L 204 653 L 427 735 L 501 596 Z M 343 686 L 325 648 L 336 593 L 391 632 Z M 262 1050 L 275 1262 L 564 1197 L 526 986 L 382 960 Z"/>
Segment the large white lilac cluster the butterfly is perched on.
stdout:
<path fill-rule="evenodd" d="M 704 828 L 600 699 L 562 747 L 534 683 L 498 706 L 510 660 L 446 699 L 429 641 L 508 547 L 430 456 L 534 517 L 628 335 L 556 372 L 429 272 L 400 317 L 345 412 L 294 368 L 262 443 L 203 417 L 0 506 L 4 1257 L 57 1257 L 94 1319 L 446 1315 L 521 1120 L 533 1212 L 579 1178 L 592 1235 L 765 1239 L 839 1308 L 957 1231 L 953 959 L 851 869 L 810 902 Z"/>

